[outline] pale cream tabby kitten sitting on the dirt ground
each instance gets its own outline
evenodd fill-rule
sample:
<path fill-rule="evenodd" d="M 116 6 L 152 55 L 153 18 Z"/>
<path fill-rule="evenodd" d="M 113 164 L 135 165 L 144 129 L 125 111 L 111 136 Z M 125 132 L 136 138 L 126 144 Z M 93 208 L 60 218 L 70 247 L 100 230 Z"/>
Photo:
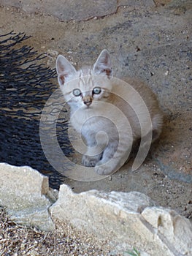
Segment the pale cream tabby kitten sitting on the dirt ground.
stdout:
<path fill-rule="evenodd" d="M 83 165 L 95 167 L 100 175 L 109 175 L 126 162 L 132 143 L 138 139 L 142 138 L 141 148 L 147 148 L 143 152 L 148 151 L 161 133 L 163 119 L 149 87 L 130 78 L 113 78 L 107 50 L 101 51 L 93 67 L 78 71 L 59 55 L 56 69 L 70 106 L 72 127 L 87 145 Z"/>

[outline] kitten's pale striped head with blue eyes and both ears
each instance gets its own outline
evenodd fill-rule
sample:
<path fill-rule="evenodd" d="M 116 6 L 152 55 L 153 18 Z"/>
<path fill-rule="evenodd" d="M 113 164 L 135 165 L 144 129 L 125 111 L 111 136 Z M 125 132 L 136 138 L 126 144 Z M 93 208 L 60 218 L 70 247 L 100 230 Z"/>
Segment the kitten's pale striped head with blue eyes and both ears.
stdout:
<path fill-rule="evenodd" d="M 93 67 L 76 70 L 64 57 L 56 61 L 58 84 L 66 102 L 74 108 L 92 107 L 99 101 L 106 101 L 112 89 L 110 53 L 102 50 Z"/>

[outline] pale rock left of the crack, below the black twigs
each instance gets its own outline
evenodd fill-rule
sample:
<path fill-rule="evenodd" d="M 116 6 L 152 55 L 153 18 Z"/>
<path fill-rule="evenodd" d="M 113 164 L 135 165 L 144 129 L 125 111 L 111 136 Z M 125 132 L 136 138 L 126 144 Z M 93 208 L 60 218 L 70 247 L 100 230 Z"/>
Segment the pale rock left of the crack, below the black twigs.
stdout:
<path fill-rule="evenodd" d="M 0 205 L 17 223 L 54 230 L 49 206 L 55 196 L 49 189 L 48 178 L 31 167 L 16 167 L 0 163 Z"/>

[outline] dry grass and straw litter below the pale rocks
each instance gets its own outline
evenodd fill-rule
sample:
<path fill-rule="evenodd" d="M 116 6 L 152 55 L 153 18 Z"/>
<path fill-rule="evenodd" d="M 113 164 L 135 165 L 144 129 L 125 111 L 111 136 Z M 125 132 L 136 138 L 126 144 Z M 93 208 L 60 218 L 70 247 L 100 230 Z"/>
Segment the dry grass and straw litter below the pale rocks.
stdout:
<path fill-rule="evenodd" d="M 85 241 L 80 234 L 66 230 L 66 233 L 47 233 L 35 228 L 21 227 L 12 222 L 0 208 L 0 255 L 107 255 L 101 244 Z"/>

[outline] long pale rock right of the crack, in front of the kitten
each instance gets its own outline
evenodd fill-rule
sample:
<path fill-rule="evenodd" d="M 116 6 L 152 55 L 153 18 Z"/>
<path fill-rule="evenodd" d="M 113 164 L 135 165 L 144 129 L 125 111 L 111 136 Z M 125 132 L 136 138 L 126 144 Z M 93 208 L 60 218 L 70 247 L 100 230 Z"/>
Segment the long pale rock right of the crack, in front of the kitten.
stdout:
<path fill-rule="evenodd" d="M 179 256 L 191 252 L 189 238 L 192 233 L 188 219 L 155 206 L 149 197 L 139 192 L 92 190 L 75 194 L 62 185 L 58 200 L 50 207 L 50 214 L 61 226 L 62 222 L 67 222 L 82 233 L 107 240 L 118 252 L 125 252 L 130 245 L 148 255 Z M 180 232 L 182 237 L 177 244 Z"/>

